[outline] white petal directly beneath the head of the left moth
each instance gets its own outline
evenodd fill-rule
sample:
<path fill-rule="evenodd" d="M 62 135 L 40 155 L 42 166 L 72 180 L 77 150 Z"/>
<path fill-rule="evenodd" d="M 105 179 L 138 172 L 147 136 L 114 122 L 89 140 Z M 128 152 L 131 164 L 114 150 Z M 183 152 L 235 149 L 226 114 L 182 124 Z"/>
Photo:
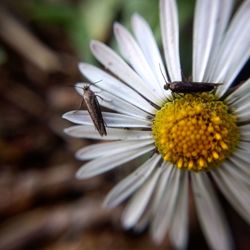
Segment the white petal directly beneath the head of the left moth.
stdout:
<path fill-rule="evenodd" d="M 82 95 L 82 87 L 83 87 L 84 83 L 77 83 L 76 84 L 76 91 Z M 113 94 L 110 94 L 108 92 L 105 91 L 101 91 L 100 89 L 96 86 L 91 86 L 91 90 L 98 94 L 99 98 L 98 98 L 98 102 L 101 106 L 112 109 L 114 111 L 117 111 L 118 113 L 122 113 L 122 114 L 128 114 L 131 116 L 136 116 L 136 117 L 148 117 L 148 116 L 152 116 L 150 113 L 147 113 L 141 109 L 139 109 L 139 107 L 119 98 L 114 96 Z"/>

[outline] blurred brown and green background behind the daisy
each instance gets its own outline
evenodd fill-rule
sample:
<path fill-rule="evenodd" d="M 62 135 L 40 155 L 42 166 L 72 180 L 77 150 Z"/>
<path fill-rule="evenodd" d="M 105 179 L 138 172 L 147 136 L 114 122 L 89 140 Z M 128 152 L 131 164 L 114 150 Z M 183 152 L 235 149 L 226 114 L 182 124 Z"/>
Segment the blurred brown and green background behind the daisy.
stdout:
<path fill-rule="evenodd" d="M 188 76 L 194 1 L 178 4 Z M 93 141 L 63 134 L 70 124 L 62 114 L 81 103 L 67 87 L 84 80 L 77 64 L 97 64 L 90 40 L 116 49 L 112 23 L 130 28 L 134 12 L 150 23 L 160 44 L 158 0 L 0 1 L 0 250 L 171 249 L 167 238 L 155 246 L 146 232 L 123 231 L 121 208 L 101 208 L 126 173 L 76 180 L 82 163 L 74 152 Z M 243 79 L 246 72 L 247 66 Z M 249 249 L 249 228 L 221 199 L 237 249 Z M 193 210 L 190 220 L 189 249 L 208 249 Z"/>

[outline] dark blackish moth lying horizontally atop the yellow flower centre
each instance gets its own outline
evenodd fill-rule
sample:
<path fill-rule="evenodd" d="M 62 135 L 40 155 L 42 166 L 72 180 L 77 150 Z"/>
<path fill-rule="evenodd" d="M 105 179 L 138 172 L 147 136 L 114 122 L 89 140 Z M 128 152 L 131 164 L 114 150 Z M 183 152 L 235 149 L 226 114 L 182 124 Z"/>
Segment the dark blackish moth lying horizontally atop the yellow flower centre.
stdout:
<path fill-rule="evenodd" d="M 164 89 L 170 89 L 174 93 L 201 93 L 209 92 L 221 85 L 221 83 L 207 83 L 207 82 L 166 82 Z"/>

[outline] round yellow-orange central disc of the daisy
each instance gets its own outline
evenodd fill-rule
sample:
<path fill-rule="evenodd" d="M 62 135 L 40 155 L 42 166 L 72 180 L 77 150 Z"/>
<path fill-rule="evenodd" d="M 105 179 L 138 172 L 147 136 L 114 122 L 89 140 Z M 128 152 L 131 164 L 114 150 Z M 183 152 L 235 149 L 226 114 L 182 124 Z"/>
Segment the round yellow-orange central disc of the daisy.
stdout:
<path fill-rule="evenodd" d="M 178 168 L 218 166 L 239 141 L 236 116 L 214 94 L 186 94 L 157 111 L 152 126 L 158 151 Z"/>

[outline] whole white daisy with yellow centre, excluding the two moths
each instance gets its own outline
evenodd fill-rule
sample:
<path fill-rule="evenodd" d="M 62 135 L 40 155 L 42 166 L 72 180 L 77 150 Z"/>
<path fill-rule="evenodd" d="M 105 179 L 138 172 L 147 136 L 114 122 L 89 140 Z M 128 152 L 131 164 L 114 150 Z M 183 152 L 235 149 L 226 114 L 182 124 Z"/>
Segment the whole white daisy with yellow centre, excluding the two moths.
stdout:
<path fill-rule="evenodd" d="M 233 5 L 233 0 L 198 0 L 195 7 L 192 81 L 219 83 L 214 91 L 176 95 L 164 89 L 166 81 L 184 80 L 176 2 L 160 0 L 164 58 L 149 25 L 135 14 L 133 34 L 114 24 L 121 56 L 92 41 L 104 69 L 79 65 L 90 83 L 101 80 L 90 88 L 101 96 L 101 106 L 114 111 L 102 112 L 107 136 L 99 135 L 87 111 L 64 114 L 78 124 L 65 130 L 68 135 L 107 141 L 77 151 L 78 159 L 88 161 L 79 179 L 143 156 L 144 163 L 110 191 L 104 205 L 127 201 L 124 228 L 149 225 L 155 242 L 168 234 L 178 249 L 187 246 L 190 192 L 211 249 L 232 248 L 213 184 L 250 221 L 250 79 L 230 88 L 250 55 L 250 2 L 232 17 Z"/>

